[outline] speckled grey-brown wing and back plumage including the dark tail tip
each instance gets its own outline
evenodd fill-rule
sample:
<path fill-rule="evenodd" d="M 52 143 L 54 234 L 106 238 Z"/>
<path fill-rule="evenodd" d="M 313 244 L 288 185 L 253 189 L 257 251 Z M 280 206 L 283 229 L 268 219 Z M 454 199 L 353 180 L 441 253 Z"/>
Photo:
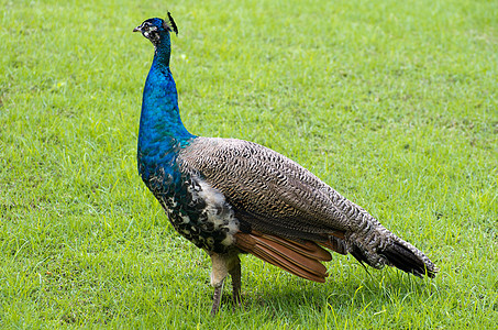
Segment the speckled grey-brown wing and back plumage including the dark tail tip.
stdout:
<path fill-rule="evenodd" d="M 273 150 L 234 139 L 198 138 L 178 161 L 182 170 L 223 194 L 243 232 L 312 241 L 377 268 L 395 265 L 419 276 L 436 272 L 417 248 Z"/>

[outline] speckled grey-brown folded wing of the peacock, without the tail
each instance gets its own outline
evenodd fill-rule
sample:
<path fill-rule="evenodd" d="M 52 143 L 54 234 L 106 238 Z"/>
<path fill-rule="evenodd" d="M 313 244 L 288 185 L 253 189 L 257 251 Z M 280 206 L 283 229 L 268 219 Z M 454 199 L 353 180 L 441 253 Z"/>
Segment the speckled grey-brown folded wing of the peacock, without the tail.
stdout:
<path fill-rule="evenodd" d="M 329 242 L 354 231 L 358 215 L 368 216 L 299 164 L 256 143 L 197 138 L 179 162 L 224 195 L 242 231 Z"/>

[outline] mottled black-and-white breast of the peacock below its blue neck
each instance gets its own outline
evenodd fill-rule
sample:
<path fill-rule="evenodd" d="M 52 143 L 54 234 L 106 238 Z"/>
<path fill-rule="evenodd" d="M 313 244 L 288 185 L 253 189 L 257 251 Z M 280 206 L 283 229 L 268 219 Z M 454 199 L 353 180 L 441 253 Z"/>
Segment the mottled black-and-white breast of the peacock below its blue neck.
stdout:
<path fill-rule="evenodd" d="M 178 233 L 208 252 L 231 249 L 239 221 L 221 191 L 200 175 L 182 170 L 176 157 L 164 166 L 145 166 L 142 173 Z"/>

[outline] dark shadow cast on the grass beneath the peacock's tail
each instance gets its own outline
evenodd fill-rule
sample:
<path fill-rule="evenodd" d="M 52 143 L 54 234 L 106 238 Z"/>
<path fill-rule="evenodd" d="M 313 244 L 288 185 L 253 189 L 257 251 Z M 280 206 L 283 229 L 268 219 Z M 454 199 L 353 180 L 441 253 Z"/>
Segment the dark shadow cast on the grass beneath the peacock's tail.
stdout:
<path fill-rule="evenodd" d="M 435 283 L 400 272 L 364 278 L 329 279 L 325 284 L 286 280 L 261 289 L 243 289 L 243 310 L 257 310 L 269 316 L 301 318 L 303 314 L 361 314 L 366 309 L 384 310 L 386 306 L 417 305 L 438 293 Z M 225 290 L 222 304 L 236 310 L 231 292 Z"/>

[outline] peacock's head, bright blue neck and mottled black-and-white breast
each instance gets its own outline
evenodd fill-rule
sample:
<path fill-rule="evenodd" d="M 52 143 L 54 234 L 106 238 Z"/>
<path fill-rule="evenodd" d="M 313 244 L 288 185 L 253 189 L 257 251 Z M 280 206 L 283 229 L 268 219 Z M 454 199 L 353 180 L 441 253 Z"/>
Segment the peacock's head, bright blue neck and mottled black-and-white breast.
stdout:
<path fill-rule="evenodd" d="M 174 29 L 175 25 L 162 19 L 151 19 L 134 30 L 142 32 L 155 47 L 142 100 L 139 173 L 179 233 L 201 249 L 225 252 L 222 242 L 228 242 L 229 230 L 225 228 L 233 217 L 213 217 L 213 208 L 228 210 L 224 200 L 218 198 L 214 202 L 207 202 L 210 187 L 202 187 L 198 173 L 180 167 L 180 151 L 197 136 L 190 134 L 181 122 L 178 94 L 169 70 L 169 32 Z"/>

